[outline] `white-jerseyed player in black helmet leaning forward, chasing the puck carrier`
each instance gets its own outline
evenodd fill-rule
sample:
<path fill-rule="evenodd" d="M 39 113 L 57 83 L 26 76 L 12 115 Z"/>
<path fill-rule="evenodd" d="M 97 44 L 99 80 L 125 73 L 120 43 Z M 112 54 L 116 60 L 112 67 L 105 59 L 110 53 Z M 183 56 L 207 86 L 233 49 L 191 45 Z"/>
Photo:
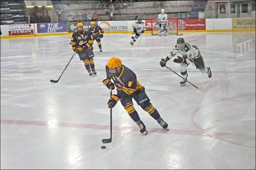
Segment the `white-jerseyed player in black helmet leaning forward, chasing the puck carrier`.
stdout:
<path fill-rule="evenodd" d="M 186 85 L 186 80 L 188 78 L 187 67 L 190 63 L 194 63 L 196 69 L 200 70 L 202 74 L 207 73 L 209 78 L 212 77 L 211 68 L 205 67 L 204 58 L 201 55 L 198 47 L 186 43 L 183 38 L 178 38 L 177 44 L 165 59 L 162 58 L 160 65 L 164 67 L 166 65 L 166 62 L 169 61 L 172 57 L 174 57 L 177 53 L 183 56 L 178 56 L 178 58 L 175 58 L 173 60 L 173 62 L 175 63 L 180 63 L 180 73 L 181 76 L 185 78 L 180 82 L 180 86 Z"/>

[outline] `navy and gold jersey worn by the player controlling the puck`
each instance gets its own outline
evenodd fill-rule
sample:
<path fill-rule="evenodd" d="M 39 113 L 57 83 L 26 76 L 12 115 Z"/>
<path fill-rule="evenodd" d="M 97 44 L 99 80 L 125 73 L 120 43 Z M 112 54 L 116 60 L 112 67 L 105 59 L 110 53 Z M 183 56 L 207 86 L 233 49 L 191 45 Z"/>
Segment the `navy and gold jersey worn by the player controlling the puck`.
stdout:
<path fill-rule="evenodd" d="M 111 76 L 106 65 L 107 79 L 112 79 L 117 90 L 118 98 L 131 95 L 133 92 L 140 91 L 144 87 L 139 83 L 135 73 L 122 64 L 121 72 L 118 76 Z"/>

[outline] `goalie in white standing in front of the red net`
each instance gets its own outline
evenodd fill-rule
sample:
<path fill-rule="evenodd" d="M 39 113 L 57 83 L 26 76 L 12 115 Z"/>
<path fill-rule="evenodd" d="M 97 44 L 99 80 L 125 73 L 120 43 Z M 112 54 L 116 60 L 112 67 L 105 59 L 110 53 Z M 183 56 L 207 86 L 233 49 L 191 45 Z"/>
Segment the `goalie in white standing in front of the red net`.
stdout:
<path fill-rule="evenodd" d="M 161 10 L 161 13 L 158 14 L 156 26 L 159 25 L 159 36 L 167 36 L 169 30 L 169 21 L 167 14 L 164 13 L 164 9 Z"/>

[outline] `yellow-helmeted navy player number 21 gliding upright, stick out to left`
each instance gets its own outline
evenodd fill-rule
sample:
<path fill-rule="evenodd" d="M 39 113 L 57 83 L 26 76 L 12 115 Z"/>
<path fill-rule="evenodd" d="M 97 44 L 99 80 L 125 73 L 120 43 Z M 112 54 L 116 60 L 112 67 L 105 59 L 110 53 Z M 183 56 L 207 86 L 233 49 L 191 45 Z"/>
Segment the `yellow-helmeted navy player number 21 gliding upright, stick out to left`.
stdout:
<path fill-rule="evenodd" d="M 93 37 L 89 31 L 83 30 L 83 23 L 77 23 L 77 31 L 72 34 L 71 45 L 75 53 L 78 54 L 80 60 L 83 60 L 84 66 L 89 76 L 96 75 L 95 65 L 93 61 Z"/>

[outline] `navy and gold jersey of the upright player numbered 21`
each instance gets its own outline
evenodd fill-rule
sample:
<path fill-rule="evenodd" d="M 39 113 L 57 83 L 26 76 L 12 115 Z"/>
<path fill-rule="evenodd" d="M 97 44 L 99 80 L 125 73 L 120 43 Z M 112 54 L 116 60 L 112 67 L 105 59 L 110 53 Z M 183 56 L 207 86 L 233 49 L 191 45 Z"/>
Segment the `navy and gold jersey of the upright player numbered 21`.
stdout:
<path fill-rule="evenodd" d="M 76 48 L 78 51 L 83 49 L 93 49 L 93 37 L 89 31 L 83 30 L 81 34 L 78 31 L 73 33 L 71 38 L 72 49 Z"/>

